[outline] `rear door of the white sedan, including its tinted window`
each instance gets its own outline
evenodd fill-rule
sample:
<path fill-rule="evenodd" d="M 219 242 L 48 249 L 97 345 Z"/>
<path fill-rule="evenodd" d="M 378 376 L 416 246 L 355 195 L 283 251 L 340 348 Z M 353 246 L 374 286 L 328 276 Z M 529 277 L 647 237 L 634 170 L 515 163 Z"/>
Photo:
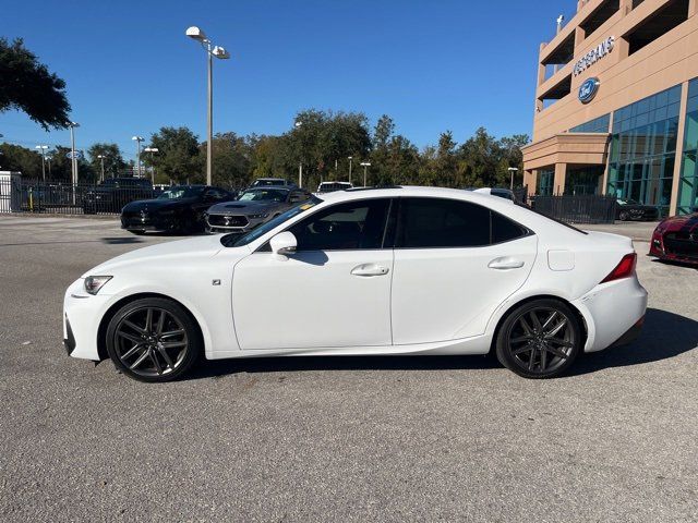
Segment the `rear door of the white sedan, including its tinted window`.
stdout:
<path fill-rule="evenodd" d="M 491 209 L 400 198 L 392 321 L 395 344 L 482 335 L 531 271 L 537 236 Z"/>

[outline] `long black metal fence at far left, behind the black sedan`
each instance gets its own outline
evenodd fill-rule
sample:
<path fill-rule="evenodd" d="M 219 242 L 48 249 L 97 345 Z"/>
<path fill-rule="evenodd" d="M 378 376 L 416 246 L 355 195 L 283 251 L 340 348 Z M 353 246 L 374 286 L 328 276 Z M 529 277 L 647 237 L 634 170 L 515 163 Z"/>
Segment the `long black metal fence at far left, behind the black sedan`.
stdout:
<path fill-rule="evenodd" d="M 130 202 L 154 196 L 147 186 L 0 180 L 0 212 L 118 215 Z"/>

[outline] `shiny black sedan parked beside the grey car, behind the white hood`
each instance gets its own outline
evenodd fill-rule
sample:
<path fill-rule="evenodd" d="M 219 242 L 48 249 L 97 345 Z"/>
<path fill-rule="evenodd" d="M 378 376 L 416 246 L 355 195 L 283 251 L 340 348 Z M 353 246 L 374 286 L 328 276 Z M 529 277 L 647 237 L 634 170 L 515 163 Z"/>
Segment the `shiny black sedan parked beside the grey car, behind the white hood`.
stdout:
<path fill-rule="evenodd" d="M 203 215 L 212 205 L 231 202 L 233 193 L 208 185 L 177 185 L 155 199 L 132 202 L 121 211 L 121 228 L 134 234 L 146 231 L 191 233 L 203 231 Z"/>

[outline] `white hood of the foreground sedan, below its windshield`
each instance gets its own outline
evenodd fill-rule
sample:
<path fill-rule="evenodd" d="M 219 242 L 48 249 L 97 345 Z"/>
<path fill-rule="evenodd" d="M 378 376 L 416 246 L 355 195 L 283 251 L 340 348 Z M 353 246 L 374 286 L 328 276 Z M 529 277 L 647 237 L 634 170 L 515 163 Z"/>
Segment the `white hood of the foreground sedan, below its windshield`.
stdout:
<path fill-rule="evenodd" d="M 249 254 L 245 247 L 224 247 L 220 235 L 195 236 L 174 242 L 158 243 L 111 258 L 104 264 L 93 267 L 83 275 L 83 278 L 92 276 L 113 276 L 124 267 L 143 264 L 160 265 L 166 259 L 177 258 L 178 263 L 195 264 L 203 258 L 210 258 L 226 248 L 228 252 L 240 251 L 240 255 Z"/>

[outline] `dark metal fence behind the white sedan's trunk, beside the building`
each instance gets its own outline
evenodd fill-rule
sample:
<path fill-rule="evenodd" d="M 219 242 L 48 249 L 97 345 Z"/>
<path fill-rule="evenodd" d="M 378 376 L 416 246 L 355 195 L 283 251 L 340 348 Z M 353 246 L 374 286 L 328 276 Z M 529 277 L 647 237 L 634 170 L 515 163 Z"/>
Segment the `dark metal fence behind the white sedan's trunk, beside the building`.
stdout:
<path fill-rule="evenodd" d="M 569 223 L 613 223 L 615 196 L 582 194 L 575 196 L 535 196 L 531 207 L 541 215 Z"/>

